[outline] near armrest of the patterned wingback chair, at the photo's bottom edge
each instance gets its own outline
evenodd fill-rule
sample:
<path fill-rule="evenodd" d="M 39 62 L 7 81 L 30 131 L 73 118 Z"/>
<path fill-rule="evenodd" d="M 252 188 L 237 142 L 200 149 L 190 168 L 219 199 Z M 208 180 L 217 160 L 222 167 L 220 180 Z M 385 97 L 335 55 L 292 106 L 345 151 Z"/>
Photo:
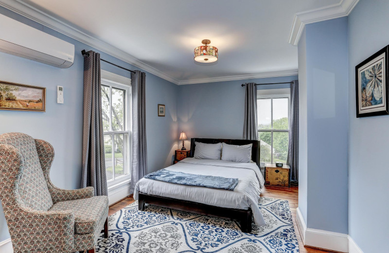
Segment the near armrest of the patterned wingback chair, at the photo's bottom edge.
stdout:
<path fill-rule="evenodd" d="M 10 230 L 16 252 L 74 251 L 72 211 L 36 211 L 20 205 L 19 210 L 20 215 L 7 219 L 8 226 L 23 228 Z"/>

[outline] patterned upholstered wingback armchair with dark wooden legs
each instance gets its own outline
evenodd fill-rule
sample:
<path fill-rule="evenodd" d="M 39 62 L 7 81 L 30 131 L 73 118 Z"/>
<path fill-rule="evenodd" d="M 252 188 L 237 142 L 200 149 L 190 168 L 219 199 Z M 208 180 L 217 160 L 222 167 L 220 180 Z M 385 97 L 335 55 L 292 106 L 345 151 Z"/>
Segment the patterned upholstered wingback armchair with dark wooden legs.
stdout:
<path fill-rule="evenodd" d="M 0 135 L 0 198 L 14 253 L 94 253 L 108 198 L 93 187 L 62 190 L 50 181 L 53 146 L 23 133 Z"/>

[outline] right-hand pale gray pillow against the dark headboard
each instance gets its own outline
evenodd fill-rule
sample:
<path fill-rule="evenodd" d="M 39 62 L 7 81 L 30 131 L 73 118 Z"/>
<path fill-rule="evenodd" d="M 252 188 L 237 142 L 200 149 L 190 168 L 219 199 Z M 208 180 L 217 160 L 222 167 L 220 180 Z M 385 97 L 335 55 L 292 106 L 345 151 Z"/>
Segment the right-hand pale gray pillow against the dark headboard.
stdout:
<path fill-rule="evenodd" d="M 238 163 L 250 163 L 252 144 L 229 145 L 223 143 L 222 160 Z"/>

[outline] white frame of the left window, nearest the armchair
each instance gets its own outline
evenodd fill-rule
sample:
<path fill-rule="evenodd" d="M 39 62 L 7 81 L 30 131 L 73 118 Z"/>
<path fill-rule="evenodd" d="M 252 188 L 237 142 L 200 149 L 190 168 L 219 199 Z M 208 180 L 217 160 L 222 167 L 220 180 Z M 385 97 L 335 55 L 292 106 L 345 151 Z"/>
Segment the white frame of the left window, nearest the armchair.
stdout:
<path fill-rule="evenodd" d="M 119 81 L 121 82 L 117 82 L 117 80 L 119 79 L 117 76 L 119 75 L 116 75 L 114 73 L 110 73 L 110 72 L 105 72 L 104 75 L 103 75 L 103 71 L 102 71 L 102 77 L 101 77 L 101 86 L 106 86 L 106 87 L 109 87 L 109 113 L 110 113 L 110 117 L 109 117 L 109 131 L 104 131 L 103 130 L 103 138 L 105 135 L 110 135 L 111 138 L 112 138 L 112 173 L 113 173 L 113 177 L 112 179 L 110 180 L 107 180 L 107 186 L 108 186 L 108 192 L 110 190 L 113 190 L 115 188 L 118 188 L 128 182 L 131 181 L 131 158 L 132 158 L 132 117 L 131 117 L 131 111 L 132 111 L 132 108 L 131 108 L 131 79 L 129 78 L 126 78 L 126 77 L 123 77 L 121 78 Z M 114 81 L 115 80 L 115 81 Z M 128 84 L 124 84 L 122 82 L 126 82 Z M 119 90 L 124 90 L 125 91 L 125 95 L 124 95 L 124 121 L 123 121 L 123 130 L 120 130 L 120 131 L 112 131 L 111 127 L 112 127 L 112 88 L 115 88 L 115 89 L 119 89 Z M 124 175 L 121 175 L 119 177 L 116 177 L 115 178 L 115 166 L 114 166 L 114 138 L 115 138 L 115 134 L 127 134 L 127 138 L 125 138 L 125 147 L 124 149 L 126 149 L 124 151 L 125 154 L 123 154 L 123 157 L 125 159 L 125 163 L 124 163 Z"/>

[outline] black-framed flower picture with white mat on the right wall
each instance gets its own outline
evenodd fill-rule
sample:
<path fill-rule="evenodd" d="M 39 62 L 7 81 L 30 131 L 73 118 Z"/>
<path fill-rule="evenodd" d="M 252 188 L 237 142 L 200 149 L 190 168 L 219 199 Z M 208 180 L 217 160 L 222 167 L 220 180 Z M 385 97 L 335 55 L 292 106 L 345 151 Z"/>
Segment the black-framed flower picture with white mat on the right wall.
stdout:
<path fill-rule="evenodd" d="M 356 117 L 389 114 L 389 45 L 355 66 Z"/>

